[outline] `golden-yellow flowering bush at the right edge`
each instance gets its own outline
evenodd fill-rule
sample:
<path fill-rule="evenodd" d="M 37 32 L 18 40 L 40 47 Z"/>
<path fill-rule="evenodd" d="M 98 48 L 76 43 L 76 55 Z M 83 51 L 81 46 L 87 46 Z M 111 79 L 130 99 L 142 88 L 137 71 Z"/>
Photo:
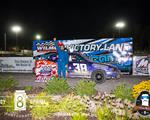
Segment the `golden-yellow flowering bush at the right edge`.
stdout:
<path fill-rule="evenodd" d="M 139 84 L 134 85 L 132 89 L 132 95 L 134 98 L 137 98 L 140 92 L 145 91 L 145 90 L 150 92 L 150 80 L 142 81 Z"/>

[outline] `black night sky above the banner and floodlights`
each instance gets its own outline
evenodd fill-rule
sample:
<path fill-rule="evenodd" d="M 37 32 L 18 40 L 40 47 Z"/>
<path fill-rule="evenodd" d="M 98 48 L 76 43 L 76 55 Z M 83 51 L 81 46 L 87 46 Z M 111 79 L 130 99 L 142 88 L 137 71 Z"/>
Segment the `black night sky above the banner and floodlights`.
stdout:
<path fill-rule="evenodd" d="M 0 5 L 0 48 L 4 49 L 5 32 L 8 48 L 15 45 L 15 33 L 10 30 L 15 24 L 23 29 L 18 34 L 20 48 L 31 49 L 37 33 L 45 40 L 118 37 L 114 24 L 124 21 L 126 27 L 121 30 L 121 37 L 133 37 L 136 49 L 148 50 L 147 5 L 132 0 L 3 1 Z"/>

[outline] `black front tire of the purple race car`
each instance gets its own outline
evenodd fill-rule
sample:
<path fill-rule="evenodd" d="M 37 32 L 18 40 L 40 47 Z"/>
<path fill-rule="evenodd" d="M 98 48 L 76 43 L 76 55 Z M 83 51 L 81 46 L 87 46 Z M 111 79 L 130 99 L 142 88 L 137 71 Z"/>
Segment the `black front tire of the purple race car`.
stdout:
<path fill-rule="evenodd" d="M 103 83 L 106 80 L 105 72 L 103 72 L 101 70 L 96 70 L 92 73 L 91 78 L 96 83 Z"/>

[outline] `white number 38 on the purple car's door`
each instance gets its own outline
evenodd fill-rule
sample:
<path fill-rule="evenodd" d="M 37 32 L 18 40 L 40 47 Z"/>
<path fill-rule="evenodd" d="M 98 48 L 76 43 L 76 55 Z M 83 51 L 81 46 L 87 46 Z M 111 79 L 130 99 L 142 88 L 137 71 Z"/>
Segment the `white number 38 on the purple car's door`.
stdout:
<path fill-rule="evenodd" d="M 73 63 L 73 66 L 75 67 L 75 72 L 87 72 L 88 71 L 86 64 Z"/>

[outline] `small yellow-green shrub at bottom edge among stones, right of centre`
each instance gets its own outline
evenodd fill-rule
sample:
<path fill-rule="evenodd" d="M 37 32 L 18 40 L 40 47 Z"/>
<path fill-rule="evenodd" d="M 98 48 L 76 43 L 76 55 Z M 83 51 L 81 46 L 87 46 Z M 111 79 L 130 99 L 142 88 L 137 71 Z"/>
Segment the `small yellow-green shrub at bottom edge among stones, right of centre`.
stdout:
<path fill-rule="evenodd" d="M 97 120 L 115 120 L 115 114 L 106 105 L 97 108 L 96 117 Z"/>

